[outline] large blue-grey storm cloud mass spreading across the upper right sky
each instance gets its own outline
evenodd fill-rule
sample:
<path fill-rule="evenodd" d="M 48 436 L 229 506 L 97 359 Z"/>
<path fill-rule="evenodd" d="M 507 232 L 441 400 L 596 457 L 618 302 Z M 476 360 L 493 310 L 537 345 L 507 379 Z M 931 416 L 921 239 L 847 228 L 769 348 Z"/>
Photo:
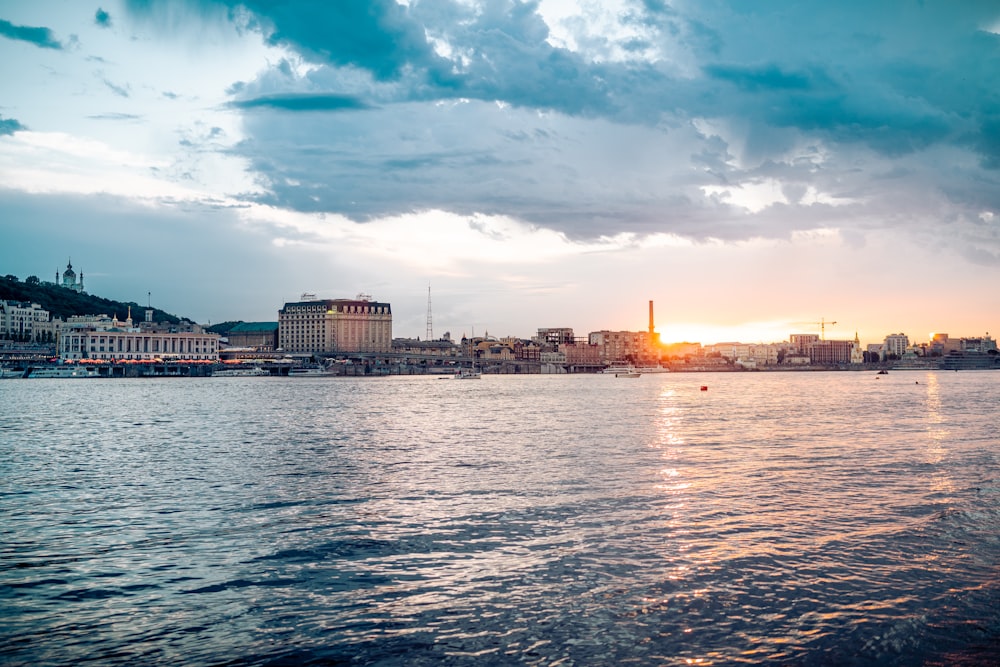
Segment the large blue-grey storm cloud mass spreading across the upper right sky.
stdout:
<path fill-rule="evenodd" d="M 253 111 L 234 150 L 278 206 L 356 220 L 495 213 L 575 238 L 744 239 L 861 229 L 865 215 L 903 226 L 920 199 L 911 189 L 974 217 L 985 202 L 962 183 L 997 187 L 992 3 L 643 0 L 617 15 L 624 36 L 606 38 L 631 54 L 617 60 L 558 46 L 537 2 L 193 4 L 206 16 L 245 7 L 243 25 L 312 65 L 299 75 L 281 61 L 230 90 L 233 108 Z M 329 113 L 293 124 L 288 112 Z M 953 151 L 978 165 L 946 169 Z M 787 202 L 763 214 L 712 190 L 769 179 Z"/>

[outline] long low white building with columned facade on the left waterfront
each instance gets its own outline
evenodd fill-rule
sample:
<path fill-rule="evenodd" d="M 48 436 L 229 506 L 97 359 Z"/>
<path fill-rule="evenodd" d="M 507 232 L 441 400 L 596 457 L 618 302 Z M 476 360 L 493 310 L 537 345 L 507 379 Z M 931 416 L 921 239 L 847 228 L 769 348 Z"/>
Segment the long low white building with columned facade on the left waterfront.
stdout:
<path fill-rule="evenodd" d="M 64 361 L 218 361 L 219 335 L 143 331 L 133 326 L 131 316 L 124 321 L 115 317 L 110 327 L 67 326 L 59 335 L 58 352 Z"/>

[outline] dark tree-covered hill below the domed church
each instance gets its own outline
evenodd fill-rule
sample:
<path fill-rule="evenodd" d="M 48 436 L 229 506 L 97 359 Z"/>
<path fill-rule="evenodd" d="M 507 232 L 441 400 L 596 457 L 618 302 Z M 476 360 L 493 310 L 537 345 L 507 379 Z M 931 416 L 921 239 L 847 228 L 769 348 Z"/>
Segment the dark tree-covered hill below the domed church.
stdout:
<path fill-rule="evenodd" d="M 107 315 L 124 320 L 128 317 L 129 306 L 132 307 L 132 318 L 136 321 L 146 316 L 146 307 L 135 302 L 112 301 L 90 294 L 80 294 L 59 285 L 43 283 L 35 276 L 28 276 L 24 282 L 12 275 L 0 278 L 0 299 L 37 303 L 49 311 L 52 317 L 62 319 L 72 315 Z M 181 318 L 154 308 L 153 320 L 176 324 Z"/>

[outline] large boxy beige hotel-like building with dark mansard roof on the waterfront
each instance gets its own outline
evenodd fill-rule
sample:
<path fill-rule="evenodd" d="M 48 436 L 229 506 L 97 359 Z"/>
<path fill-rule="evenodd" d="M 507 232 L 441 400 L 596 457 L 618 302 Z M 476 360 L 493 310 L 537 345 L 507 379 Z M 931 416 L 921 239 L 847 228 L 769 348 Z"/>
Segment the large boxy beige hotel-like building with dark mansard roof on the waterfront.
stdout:
<path fill-rule="evenodd" d="M 303 294 L 278 311 L 278 346 L 286 352 L 390 352 L 392 309 L 388 303 L 316 299 Z"/>

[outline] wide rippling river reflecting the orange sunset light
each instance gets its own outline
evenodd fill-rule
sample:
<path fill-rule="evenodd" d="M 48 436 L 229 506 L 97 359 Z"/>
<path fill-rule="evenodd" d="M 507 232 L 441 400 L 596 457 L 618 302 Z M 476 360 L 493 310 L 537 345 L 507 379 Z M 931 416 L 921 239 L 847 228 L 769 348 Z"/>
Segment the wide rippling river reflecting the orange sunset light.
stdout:
<path fill-rule="evenodd" d="M 3 665 L 1000 662 L 991 371 L 10 380 L 0 494 Z"/>

